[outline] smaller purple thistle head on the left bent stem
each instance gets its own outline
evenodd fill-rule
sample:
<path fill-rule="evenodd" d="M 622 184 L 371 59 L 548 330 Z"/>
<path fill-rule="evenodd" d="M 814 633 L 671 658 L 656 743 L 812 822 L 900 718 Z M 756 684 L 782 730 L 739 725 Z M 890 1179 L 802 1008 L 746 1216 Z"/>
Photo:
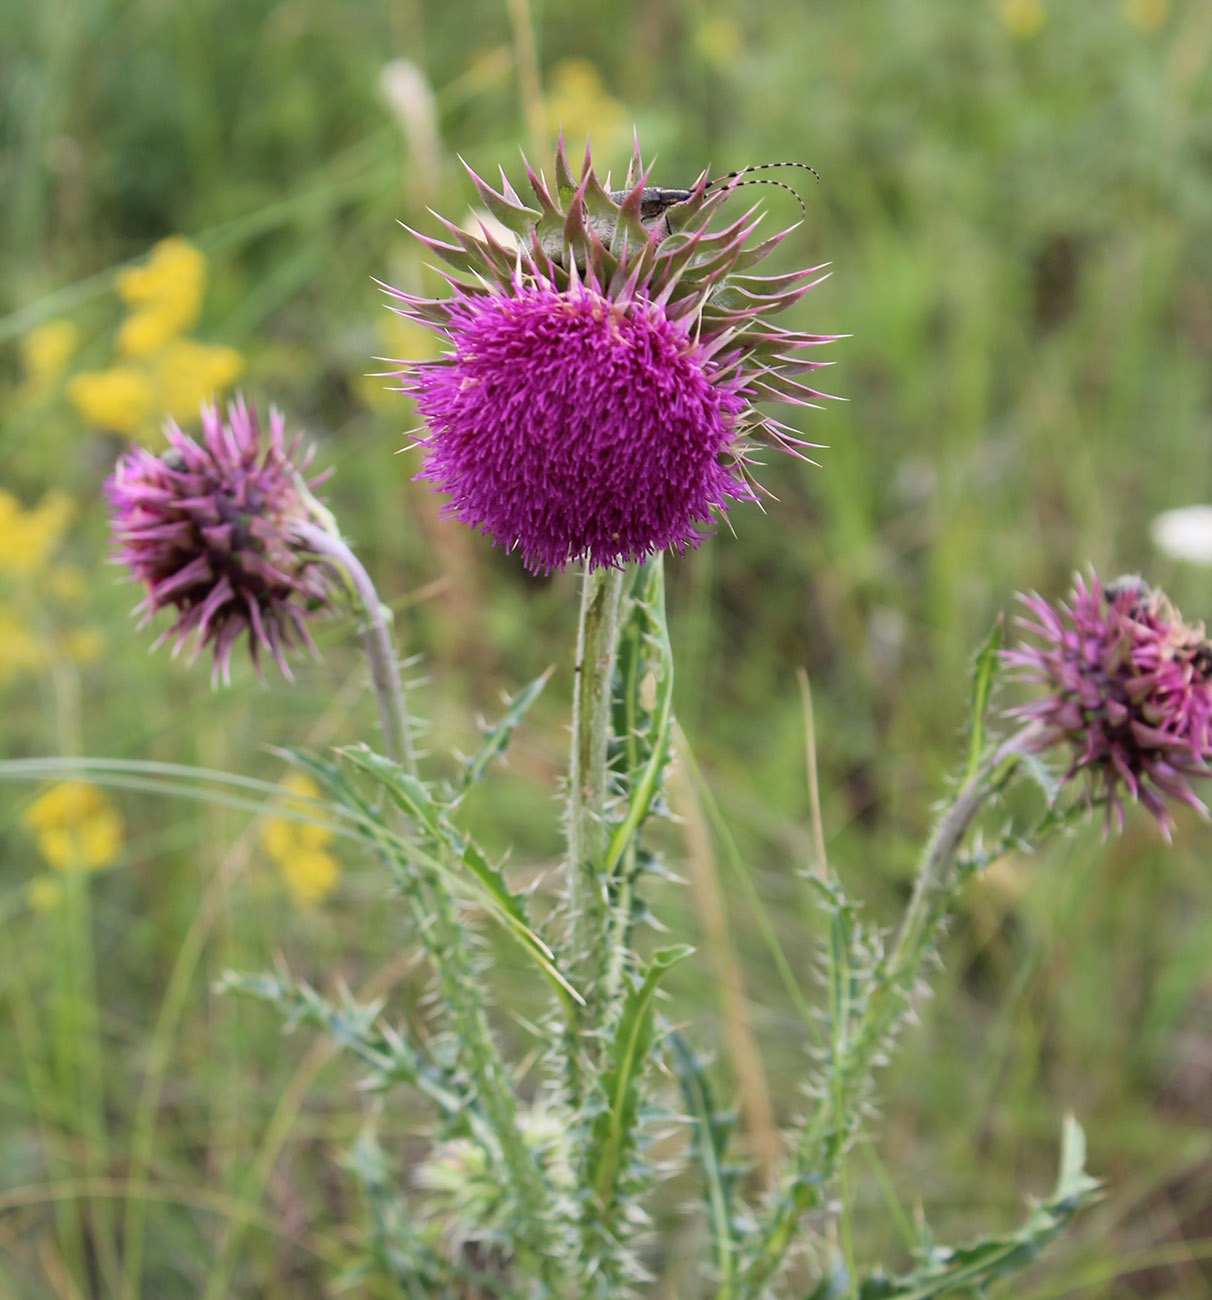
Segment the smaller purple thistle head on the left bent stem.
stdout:
<path fill-rule="evenodd" d="M 230 680 L 231 647 L 247 632 L 254 666 L 270 653 L 286 677 L 286 651 L 313 654 L 307 618 L 332 599 L 332 571 L 308 554 L 296 525 L 300 495 L 324 474 L 303 480 L 311 452 L 286 445 L 282 416 L 269 413 L 263 448 L 256 412 L 237 400 L 224 421 L 202 408 L 202 442 L 169 424 L 169 450 L 131 447 L 105 482 L 114 559 L 142 581 L 140 627 L 165 606 L 177 611 L 155 645 L 173 638 L 173 654 L 191 637 L 191 658 L 213 647 L 211 680 Z"/>

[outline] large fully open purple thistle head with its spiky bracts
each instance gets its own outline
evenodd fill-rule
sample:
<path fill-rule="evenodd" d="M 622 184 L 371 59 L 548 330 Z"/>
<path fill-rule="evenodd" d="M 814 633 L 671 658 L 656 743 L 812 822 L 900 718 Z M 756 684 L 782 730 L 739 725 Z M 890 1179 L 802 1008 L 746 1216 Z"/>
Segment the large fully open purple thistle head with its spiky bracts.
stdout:
<path fill-rule="evenodd" d="M 697 546 L 713 512 L 756 498 L 759 442 L 796 455 L 815 446 L 753 403 L 827 396 L 793 376 L 826 364 L 800 354 L 834 335 L 762 318 L 822 268 L 744 274 L 787 231 L 745 247 L 752 212 L 709 231 L 732 187 L 709 191 L 705 177 L 684 203 L 641 216 L 639 148 L 615 195 L 588 152 L 576 181 L 563 143 L 554 198 L 527 176 L 533 207 L 503 173 L 499 192 L 471 173 L 516 248 L 443 222 L 456 243 L 419 238 L 467 277 L 447 277 L 453 296 L 388 290 L 401 315 L 450 343 L 401 372 L 428 425 L 417 477 L 450 494 L 445 515 L 516 547 L 536 572 Z"/>

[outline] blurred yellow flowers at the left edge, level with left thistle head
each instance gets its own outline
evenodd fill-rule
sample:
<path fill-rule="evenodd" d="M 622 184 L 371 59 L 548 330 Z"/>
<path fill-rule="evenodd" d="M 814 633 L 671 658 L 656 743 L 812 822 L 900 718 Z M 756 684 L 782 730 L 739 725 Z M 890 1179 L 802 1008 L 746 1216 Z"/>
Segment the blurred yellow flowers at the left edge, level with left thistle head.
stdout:
<path fill-rule="evenodd" d="M 0 686 L 56 655 L 86 663 L 101 653 L 99 628 L 62 618 L 87 592 L 75 566 L 52 562 L 74 512 L 61 491 L 26 510 L 0 489 Z"/>

